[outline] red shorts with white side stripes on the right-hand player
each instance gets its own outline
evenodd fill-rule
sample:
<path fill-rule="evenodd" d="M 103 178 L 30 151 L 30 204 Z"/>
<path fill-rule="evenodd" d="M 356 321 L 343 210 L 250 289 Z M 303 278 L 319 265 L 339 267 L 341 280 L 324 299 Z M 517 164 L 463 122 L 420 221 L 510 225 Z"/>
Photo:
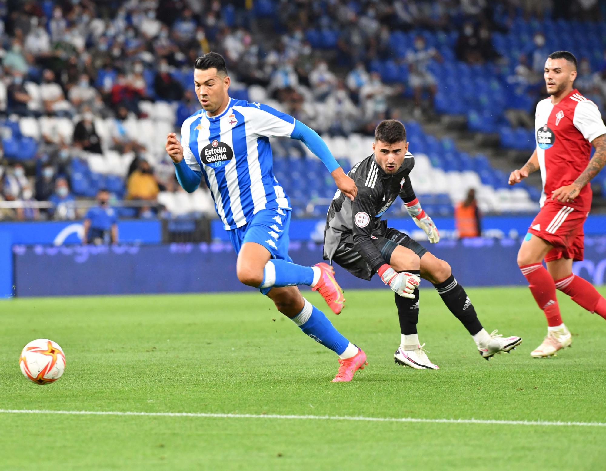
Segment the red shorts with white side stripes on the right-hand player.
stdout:
<path fill-rule="evenodd" d="M 579 211 L 570 206 L 547 201 L 536 215 L 528 229 L 530 234 L 553 245 L 545 262 L 558 259 L 583 260 L 585 234 L 583 223 L 587 219 L 587 211 Z"/>

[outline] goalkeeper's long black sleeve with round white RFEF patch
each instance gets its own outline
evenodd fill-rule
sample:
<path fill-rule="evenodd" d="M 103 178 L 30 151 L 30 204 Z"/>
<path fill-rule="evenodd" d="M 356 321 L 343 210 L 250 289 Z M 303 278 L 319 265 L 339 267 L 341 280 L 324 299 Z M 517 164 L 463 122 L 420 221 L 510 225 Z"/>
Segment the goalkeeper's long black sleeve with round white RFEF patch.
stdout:
<path fill-rule="evenodd" d="M 376 272 L 385 264 L 385 260 L 373 243 L 370 230 L 375 216 L 374 202 L 374 191 L 366 186 L 358 186 L 358 194 L 351 203 L 351 217 L 353 217 L 353 245 L 373 272 Z"/>

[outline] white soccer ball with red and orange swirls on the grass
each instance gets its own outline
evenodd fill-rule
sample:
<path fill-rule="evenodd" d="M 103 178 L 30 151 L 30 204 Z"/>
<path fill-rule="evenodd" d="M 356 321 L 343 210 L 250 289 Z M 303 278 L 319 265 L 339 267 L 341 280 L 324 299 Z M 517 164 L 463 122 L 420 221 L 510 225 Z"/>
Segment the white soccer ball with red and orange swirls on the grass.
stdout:
<path fill-rule="evenodd" d="M 23 347 L 19 367 L 25 378 L 36 384 L 53 383 L 65 370 L 65 354 L 52 340 L 38 338 Z"/>

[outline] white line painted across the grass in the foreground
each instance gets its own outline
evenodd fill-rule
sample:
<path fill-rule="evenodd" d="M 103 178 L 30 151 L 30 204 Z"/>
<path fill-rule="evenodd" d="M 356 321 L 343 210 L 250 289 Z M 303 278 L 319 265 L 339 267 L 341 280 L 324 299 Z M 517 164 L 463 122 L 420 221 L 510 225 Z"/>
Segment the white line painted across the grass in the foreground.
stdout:
<path fill-rule="evenodd" d="M 353 417 L 348 415 L 278 415 L 251 413 L 204 413 L 204 412 L 119 412 L 115 410 L 27 410 L 0 409 L 0 413 L 30 413 L 59 415 L 139 415 L 144 417 L 211 417 L 235 419 L 282 419 L 282 420 L 355 420 L 365 422 L 416 422 L 435 424 L 489 424 L 489 425 L 530 425 L 557 427 L 606 427 L 604 422 L 562 422 L 548 420 L 481 420 L 481 419 L 423 419 L 414 417 Z"/>

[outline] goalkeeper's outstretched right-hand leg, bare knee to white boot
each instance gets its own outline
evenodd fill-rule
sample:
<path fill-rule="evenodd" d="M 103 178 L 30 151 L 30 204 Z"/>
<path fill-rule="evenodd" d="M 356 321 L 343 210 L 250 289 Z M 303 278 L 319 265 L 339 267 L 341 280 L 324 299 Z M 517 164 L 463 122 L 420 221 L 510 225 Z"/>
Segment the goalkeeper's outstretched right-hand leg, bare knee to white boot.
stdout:
<path fill-rule="evenodd" d="M 488 334 L 478 319 L 476 309 L 465 289 L 454 278 L 450 265 L 430 252 L 421 257 L 421 278 L 431 282 L 454 317 L 473 337 L 482 357 L 490 358 L 498 352 L 508 352 L 522 343 L 521 337 L 501 337 L 496 331 Z"/>

